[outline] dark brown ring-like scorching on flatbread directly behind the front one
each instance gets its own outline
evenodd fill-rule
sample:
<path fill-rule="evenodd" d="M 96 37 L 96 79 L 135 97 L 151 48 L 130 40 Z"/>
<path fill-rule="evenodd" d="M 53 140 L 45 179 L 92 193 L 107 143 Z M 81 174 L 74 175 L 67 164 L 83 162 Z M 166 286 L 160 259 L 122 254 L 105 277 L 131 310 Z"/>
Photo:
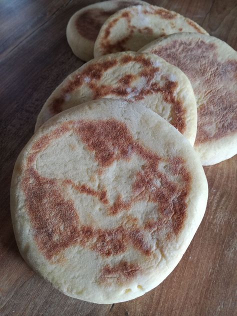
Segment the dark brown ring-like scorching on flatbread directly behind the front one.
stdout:
<path fill-rule="evenodd" d="M 110 84 L 101 85 L 98 83 L 98 80 L 108 69 L 118 66 L 119 64 L 122 66 L 129 62 L 139 63 L 143 66 L 143 69 L 136 75 L 131 73 L 125 74 L 117 81 L 115 87 Z M 68 83 L 61 89 L 61 94 L 58 97 L 54 97 L 51 100 L 49 109 L 53 115 L 59 113 L 63 109 L 62 105 L 65 102 L 65 95 L 78 89 L 82 84 L 85 84 L 85 78 L 88 78 L 89 82 L 86 84 L 92 91 L 92 99 L 103 98 L 113 94 L 116 97 L 130 101 L 127 97 L 130 93 L 133 93 L 134 100 L 137 101 L 142 100 L 147 95 L 152 95 L 153 93 L 158 92 L 161 93 L 164 101 L 172 105 L 173 119 L 170 123 L 183 133 L 186 128 L 186 109 L 184 108 L 183 103 L 174 96 L 178 83 L 170 81 L 167 78 L 164 85 L 160 85 L 158 82 L 152 82 L 157 71 L 159 71 L 159 67 L 153 66 L 149 57 L 145 57 L 142 54 L 127 54 L 119 59 L 111 58 L 109 60 L 88 64 L 81 72 L 68 81 Z M 146 84 L 138 91 L 131 83 L 140 76 L 145 78 Z M 129 92 L 128 88 L 130 88 Z"/>

